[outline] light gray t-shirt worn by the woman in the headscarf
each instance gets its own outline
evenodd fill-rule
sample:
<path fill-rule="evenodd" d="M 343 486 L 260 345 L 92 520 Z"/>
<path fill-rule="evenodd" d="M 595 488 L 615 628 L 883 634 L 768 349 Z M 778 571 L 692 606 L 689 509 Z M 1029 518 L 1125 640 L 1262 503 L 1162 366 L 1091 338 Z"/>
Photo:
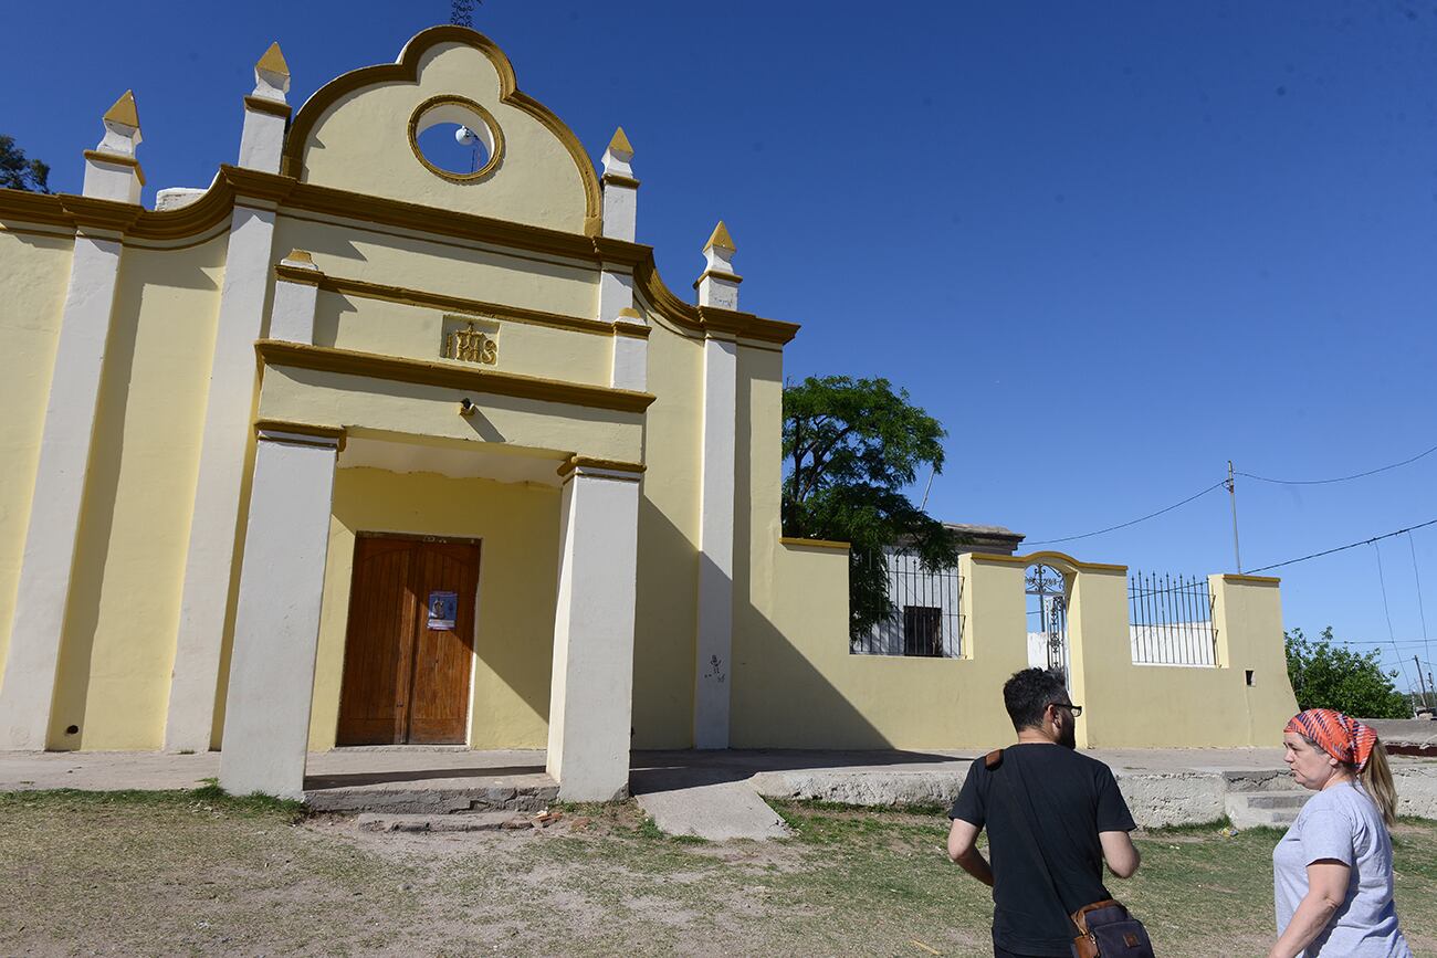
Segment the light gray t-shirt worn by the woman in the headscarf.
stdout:
<path fill-rule="evenodd" d="M 1377 803 L 1357 783 L 1332 786 L 1308 799 L 1272 850 L 1279 935 L 1308 893 L 1308 866 L 1319 859 L 1342 862 L 1351 868 L 1351 878 L 1341 908 L 1302 954 L 1411 958 L 1392 903 L 1392 839 Z"/>

